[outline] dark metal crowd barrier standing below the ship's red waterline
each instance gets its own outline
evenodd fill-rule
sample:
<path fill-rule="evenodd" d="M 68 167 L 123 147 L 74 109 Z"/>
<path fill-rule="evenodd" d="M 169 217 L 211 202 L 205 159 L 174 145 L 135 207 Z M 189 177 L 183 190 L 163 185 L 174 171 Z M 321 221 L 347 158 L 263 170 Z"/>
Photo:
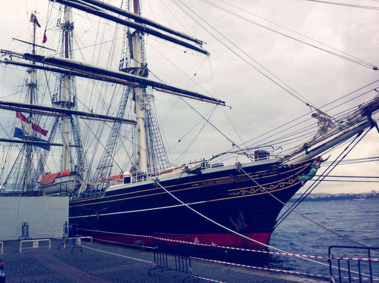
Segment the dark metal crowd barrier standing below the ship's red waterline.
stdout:
<path fill-rule="evenodd" d="M 163 268 L 181 271 L 189 274 L 188 277 L 183 279 L 184 283 L 184 280 L 192 277 L 189 244 L 166 241 L 164 239 L 184 239 L 184 241 L 189 242 L 187 235 L 154 233 L 153 247 L 156 247 L 154 249 L 155 267 L 150 269 L 148 274 L 150 274 L 150 271 L 158 268 L 162 271 Z"/>

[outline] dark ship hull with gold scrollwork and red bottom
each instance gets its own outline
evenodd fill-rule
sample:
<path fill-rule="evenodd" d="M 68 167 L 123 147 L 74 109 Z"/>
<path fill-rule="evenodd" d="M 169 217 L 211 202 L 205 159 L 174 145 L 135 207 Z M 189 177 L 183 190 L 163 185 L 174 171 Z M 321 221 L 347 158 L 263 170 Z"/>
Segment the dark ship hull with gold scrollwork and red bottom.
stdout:
<path fill-rule="evenodd" d="M 297 179 L 309 172 L 310 164 L 243 164 L 244 171 L 265 190 L 238 173 L 236 165 L 162 177 L 160 184 L 213 221 L 268 244 L 283 204 L 267 191 L 286 203 L 301 187 Z M 71 201 L 69 222 L 83 229 L 81 236 L 129 244 L 142 240 L 148 245 L 151 238 L 143 235 L 173 233 L 188 235 L 190 241 L 200 244 L 264 249 L 191 211 L 154 187 L 153 180 L 110 187 L 103 197 Z"/>

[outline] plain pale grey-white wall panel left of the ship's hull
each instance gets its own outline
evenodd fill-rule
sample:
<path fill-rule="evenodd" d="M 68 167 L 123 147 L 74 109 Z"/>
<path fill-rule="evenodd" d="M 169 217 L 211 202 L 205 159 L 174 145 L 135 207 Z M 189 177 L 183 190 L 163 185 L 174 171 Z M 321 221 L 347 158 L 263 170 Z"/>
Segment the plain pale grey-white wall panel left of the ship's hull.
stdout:
<path fill-rule="evenodd" d="M 30 238 L 62 238 L 63 224 L 68 219 L 67 196 L 0 197 L 0 241 L 19 239 L 22 222 L 29 222 Z"/>

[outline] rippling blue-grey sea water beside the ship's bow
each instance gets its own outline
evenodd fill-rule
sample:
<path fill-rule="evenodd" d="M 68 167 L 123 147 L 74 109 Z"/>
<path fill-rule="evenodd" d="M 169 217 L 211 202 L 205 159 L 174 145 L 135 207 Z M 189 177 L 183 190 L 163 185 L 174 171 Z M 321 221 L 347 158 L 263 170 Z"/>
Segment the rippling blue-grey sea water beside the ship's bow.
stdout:
<path fill-rule="evenodd" d="M 287 210 L 283 208 L 282 213 Z M 348 238 L 354 239 L 366 246 L 379 247 L 379 200 L 355 201 L 323 201 L 302 202 L 297 211 L 313 221 Z M 280 214 L 281 215 L 281 214 Z M 359 246 L 341 236 L 338 236 L 318 225 L 310 222 L 295 212 L 291 214 L 275 229 L 271 236 L 270 246 L 290 253 L 303 255 L 327 256 L 329 246 Z M 274 249 L 269 251 L 276 252 Z M 379 258 L 379 252 L 371 251 L 371 258 Z M 327 266 L 312 263 L 304 259 L 286 255 L 267 255 L 256 252 L 219 253 L 218 258 L 233 263 L 248 264 L 258 267 L 298 271 L 319 275 L 329 275 L 327 259 L 312 260 L 327 264 Z M 335 257 L 366 257 L 367 251 L 355 249 L 332 249 Z M 332 264 L 337 266 L 337 261 Z M 362 272 L 368 272 L 368 262 L 361 262 Z M 347 268 L 346 261 L 341 266 Z M 373 262 L 373 275 L 379 277 L 379 262 Z M 357 262 L 351 263 L 351 269 L 358 271 Z M 333 269 L 333 275 L 338 270 Z M 347 275 L 347 274 L 342 274 Z M 354 275 L 354 274 L 353 274 Z M 301 276 L 301 275 L 299 275 Z M 357 275 L 354 275 L 357 277 Z M 327 279 L 326 279 L 327 280 Z"/>

